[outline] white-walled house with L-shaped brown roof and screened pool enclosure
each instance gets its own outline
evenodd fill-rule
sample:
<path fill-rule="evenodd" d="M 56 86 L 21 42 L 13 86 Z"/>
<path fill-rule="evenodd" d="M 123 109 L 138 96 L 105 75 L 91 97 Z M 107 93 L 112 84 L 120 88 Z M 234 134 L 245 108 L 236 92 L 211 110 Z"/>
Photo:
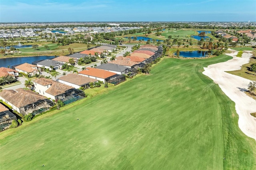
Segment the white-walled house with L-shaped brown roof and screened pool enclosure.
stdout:
<path fill-rule="evenodd" d="M 55 101 L 61 100 L 64 104 L 72 103 L 85 97 L 83 91 L 51 79 L 42 77 L 40 79 L 33 80 L 33 83 L 34 89 L 37 93 Z"/>

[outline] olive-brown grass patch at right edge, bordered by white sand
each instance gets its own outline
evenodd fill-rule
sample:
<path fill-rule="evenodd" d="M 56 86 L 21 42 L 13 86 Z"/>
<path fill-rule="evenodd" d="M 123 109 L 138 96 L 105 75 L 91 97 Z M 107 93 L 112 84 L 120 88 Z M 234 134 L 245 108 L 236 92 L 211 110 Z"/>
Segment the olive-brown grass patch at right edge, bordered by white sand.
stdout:
<path fill-rule="evenodd" d="M 256 57 L 251 57 L 250 62 L 247 64 L 242 65 L 242 68 L 240 70 L 235 70 L 235 71 L 226 71 L 227 73 L 238 75 L 240 77 L 244 77 L 246 79 L 256 81 L 256 75 L 254 75 L 253 71 L 250 71 L 250 65 L 252 63 L 256 63 Z"/>

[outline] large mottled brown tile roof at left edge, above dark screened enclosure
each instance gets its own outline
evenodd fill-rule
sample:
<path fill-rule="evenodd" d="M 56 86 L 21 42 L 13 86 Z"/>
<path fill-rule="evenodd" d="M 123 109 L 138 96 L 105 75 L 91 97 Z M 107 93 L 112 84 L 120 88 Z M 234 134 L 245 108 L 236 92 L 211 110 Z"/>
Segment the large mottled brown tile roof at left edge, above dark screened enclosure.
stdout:
<path fill-rule="evenodd" d="M 0 93 L 0 96 L 18 108 L 46 99 L 46 97 L 30 90 L 16 89 L 16 91 L 14 93 L 12 90 L 4 90 Z"/>

